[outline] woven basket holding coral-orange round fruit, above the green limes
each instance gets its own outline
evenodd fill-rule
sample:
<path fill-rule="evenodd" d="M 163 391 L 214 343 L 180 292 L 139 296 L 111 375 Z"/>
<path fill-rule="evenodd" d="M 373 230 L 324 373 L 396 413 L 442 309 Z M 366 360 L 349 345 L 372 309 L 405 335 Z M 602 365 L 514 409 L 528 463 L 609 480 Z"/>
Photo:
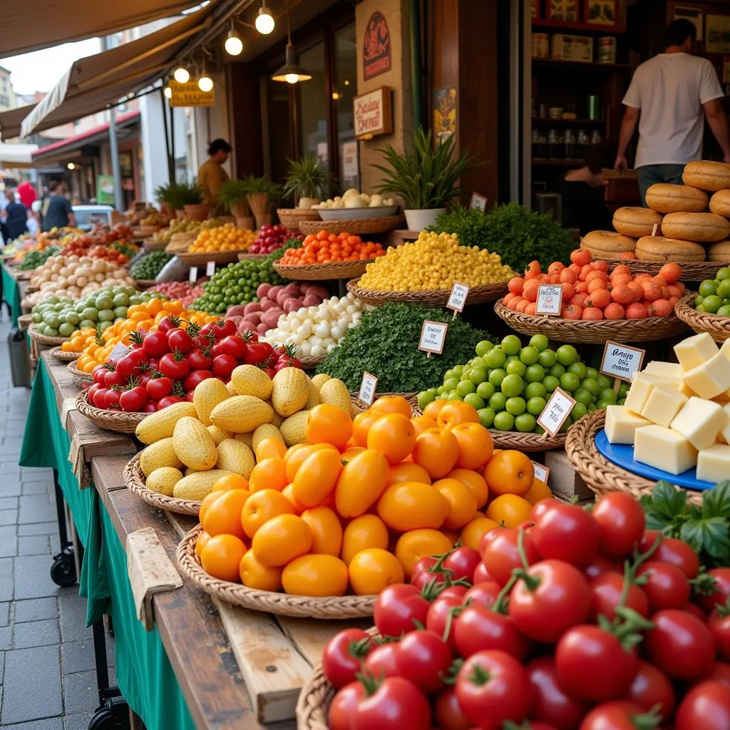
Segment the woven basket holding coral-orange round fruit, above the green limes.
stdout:
<path fill-rule="evenodd" d="M 494 311 L 512 329 L 522 334 L 546 334 L 560 342 L 646 342 L 681 334 L 687 325 L 675 315 L 642 320 L 567 320 L 561 317 L 526 315 L 508 310 L 496 301 Z"/>

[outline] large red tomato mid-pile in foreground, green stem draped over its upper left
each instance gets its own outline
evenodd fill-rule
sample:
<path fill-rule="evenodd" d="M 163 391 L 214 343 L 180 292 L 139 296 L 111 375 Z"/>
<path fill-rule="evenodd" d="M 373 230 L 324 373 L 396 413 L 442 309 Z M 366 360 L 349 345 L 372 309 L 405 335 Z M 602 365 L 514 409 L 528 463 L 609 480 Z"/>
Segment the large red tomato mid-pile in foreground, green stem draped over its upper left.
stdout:
<path fill-rule="evenodd" d="M 559 560 L 544 560 L 518 580 L 510 594 L 510 616 L 529 639 L 556 642 L 571 626 L 585 623 L 591 609 L 591 589 L 580 571 Z"/>

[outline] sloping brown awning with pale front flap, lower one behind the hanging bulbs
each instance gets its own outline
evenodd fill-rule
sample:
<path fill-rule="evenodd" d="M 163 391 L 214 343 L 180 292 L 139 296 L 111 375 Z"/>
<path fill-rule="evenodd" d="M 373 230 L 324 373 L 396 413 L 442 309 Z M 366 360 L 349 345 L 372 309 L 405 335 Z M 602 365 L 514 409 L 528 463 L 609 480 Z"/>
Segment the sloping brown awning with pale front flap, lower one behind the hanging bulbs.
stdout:
<path fill-rule="evenodd" d="M 210 3 L 136 41 L 74 61 L 58 85 L 23 120 L 20 135 L 28 137 L 101 112 L 150 85 L 189 39 L 210 25 L 214 6 Z"/>

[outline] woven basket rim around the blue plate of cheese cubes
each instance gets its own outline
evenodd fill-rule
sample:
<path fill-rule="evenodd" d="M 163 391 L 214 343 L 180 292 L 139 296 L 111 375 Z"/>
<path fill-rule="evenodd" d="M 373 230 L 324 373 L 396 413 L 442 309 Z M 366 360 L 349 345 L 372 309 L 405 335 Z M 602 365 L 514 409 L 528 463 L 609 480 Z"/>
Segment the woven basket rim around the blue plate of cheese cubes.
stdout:
<path fill-rule="evenodd" d="M 605 421 L 606 412 L 598 410 L 584 415 L 570 427 L 565 450 L 575 471 L 598 496 L 607 492 L 626 492 L 636 499 L 650 495 L 656 482 L 612 464 L 596 449 L 596 434 Z M 702 505 L 702 492 L 683 491 L 690 504 Z"/>

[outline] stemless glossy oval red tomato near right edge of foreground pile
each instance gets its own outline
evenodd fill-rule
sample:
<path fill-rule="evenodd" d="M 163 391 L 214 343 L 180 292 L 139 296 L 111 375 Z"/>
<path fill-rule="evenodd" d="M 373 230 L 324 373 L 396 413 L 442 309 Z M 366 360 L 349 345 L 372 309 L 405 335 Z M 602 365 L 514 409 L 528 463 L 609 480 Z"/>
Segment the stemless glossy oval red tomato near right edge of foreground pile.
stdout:
<path fill-rule="evenodd" d="M 644 648 L 649 661 L 672 679 L 702 677 L 715 658 L 715 641 L 699 618 L 685 611 L 666 609 L 651 617 Z"/>

